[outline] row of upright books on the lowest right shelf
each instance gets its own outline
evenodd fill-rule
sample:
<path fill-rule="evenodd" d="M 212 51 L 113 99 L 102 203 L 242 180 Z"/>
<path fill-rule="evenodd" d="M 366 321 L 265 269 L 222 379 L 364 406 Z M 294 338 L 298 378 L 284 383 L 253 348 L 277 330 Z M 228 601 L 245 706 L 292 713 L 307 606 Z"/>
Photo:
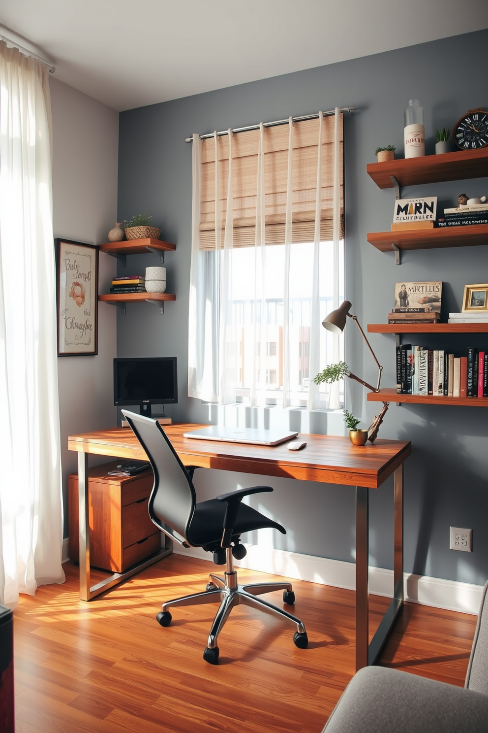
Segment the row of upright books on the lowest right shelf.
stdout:
<path fill-rule="evenodd" d="M 397 394 L 488 397 L 488 350 L 466 356 L 404 344 L 397 346 Z"/>

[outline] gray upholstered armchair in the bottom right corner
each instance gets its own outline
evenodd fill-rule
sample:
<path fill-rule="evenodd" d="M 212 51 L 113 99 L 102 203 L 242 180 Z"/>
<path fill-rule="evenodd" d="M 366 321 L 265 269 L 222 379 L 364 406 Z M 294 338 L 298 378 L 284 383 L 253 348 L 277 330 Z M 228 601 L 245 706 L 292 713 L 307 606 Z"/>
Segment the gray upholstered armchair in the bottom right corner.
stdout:
<path fill-rule="evenodd" d="M 487 733 L 488 583 L 464 688 L 384 667 L 365 667 L 334 708 L 323 733 Z"/>

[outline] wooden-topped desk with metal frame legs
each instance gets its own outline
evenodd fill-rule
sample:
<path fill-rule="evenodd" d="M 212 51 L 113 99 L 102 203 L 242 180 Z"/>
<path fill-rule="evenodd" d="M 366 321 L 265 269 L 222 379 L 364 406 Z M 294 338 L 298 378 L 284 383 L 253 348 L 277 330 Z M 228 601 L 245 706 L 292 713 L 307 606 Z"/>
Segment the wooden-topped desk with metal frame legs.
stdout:
<path fill-rule="evenodd" d="M 286 443 L 274 447 L 250 446 L 183 437 L 184 432 L 198 427 L 203 426 L 165 426 L 184 465 L 356 487 L 356 669 L 373 664 L 403 603 L 403 462 L 411 453 L 410 442 L 377 439 L 363 447 L 353 446 L 349 438 L 335 435 L 301 434 L 307 447 L 292 452 Z M 88 456 L 94 453 L 141 460 L 147 457 L 127 427 L 70 435 L 68 448 L 79 453 L 80 597 L 91 600 L 171 550 L 165 548 L 143 564 L 90 587 L 89 534 L 86 531 L 89 526 Z M 369 489 L 378 489 L 391 474 L 394 474 L 394 597 L 368 644 Z"/>

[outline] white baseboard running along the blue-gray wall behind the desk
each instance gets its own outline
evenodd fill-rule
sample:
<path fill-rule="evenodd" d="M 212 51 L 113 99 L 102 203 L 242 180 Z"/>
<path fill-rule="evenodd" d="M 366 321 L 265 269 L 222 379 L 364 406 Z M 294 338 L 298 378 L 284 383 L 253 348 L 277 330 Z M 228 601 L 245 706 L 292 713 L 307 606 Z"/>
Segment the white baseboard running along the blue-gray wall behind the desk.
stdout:
<path fill-rule="evenodd" d="M 247 556 L 236 561 L 236 566 L 249 570 L 285 575 L 286 578 L 337 586 L 354 590 L 356 588 L 356 566 L 353 562 L 331 560 L 328 558 L 301 555 L 285 550 L 247 545 Z M 181 548 L 173 544 L 173 552 L 189 555 L 212 562 L 210 553 L 200 548 Z M 216 566 L 214 566 L 215 568 Z M 427 575 L 403 575 L 405 600 L 448 611 L 462 611 L 465 614 L 478 614 L 483 586 L 443 578 L 429 578 Z M 369 568 L 369 592 L 375 595 L 393 597 L 393 570 L 383 567 Z"/>

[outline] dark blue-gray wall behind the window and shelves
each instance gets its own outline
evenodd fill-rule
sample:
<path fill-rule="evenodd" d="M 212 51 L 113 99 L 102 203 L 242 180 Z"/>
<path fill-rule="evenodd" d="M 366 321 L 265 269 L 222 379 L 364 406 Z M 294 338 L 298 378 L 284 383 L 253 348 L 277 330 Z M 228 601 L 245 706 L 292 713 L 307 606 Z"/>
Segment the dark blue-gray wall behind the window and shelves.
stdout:
<path fill-rule="evenodd" d="M 488 280 L 487 246 L 413 251 L 403 255 L 397 268 L 393 254 L 381 254 L 367 243 L 367 232 L 389 229 L 394 194 L 377 188 L 366 165 L 375 160 L 380 145 L 394 144 L 402 157 L 403 109 L 411 97 L 418 97 L 424 106 L 428 154 L 434 152 L 436 128 L 452 128 L 469 108 L 486 103 L 487 43 L 485 30 L 121 114 L 119 217 L 150 213 L 154 223 L 161 224 L 162 237 L 176 243 L 166 264 L 168 291 L 176 292 L 177 299 L 167 304 L 164 316 L 149 304 L 129 306 L 125 317 L 119 315 L 118 355 L 178 357 L 179 404 L 168 408 L 174 419 L 209 419 L 209 408 L 189 399 L 186 392 L 192 150 L 184 137 L 356 105 L 358 111 L 345 119 L 346 295 L 353 312 L 364 325 L 385 323 L 396 281 L 442 280 L 443 317 L 447 317 L 448 311 L 460 310 L 465 284 Z M 403 194 L 435 194 L 443 208 L 453 205 L 462 191 L 470 196 L 488 194 L 488 181 L 412 186 Z M 130 259 L 131 271 L 158 264 L 153 255 Z M 462 335 L 423 340 L 428 347 L 459 353 L 468 345 L 488 346 L 488 338 Z M 372 344 L 385 367 L 384 386 L 394 386 L 394 338 L 372 336 Z M 351 369 L 374 381 L 374 364 L 352 328 L 346 348 Z M 349 407 L 369 424 L 378 405 L 365 402 L 364 391 L 350 380 L 347 393 Z M 413 455 L 405 465 L 405 570 L 469 583 L 486 580 L 486 415 L 476 407 L 391 405 L 380 436 L 413 443 Z M 312 419 L 318 429 L 320 418 Z M 256 482 L 255 476 L 197 473 L 202 498 L 221 487 Z M 276 540 L 277 547 L 353 559 L 352 489 L 299 485 L 288 479 L 273 479 L 272 484 L 275 493 L 262 506 L 288 528 L 279 544 Z M 392 482 L 371 495 L 371 562 L 391 567 Z M 448 549 L 450 525 L 473 529 L 472 554 Z"/>

